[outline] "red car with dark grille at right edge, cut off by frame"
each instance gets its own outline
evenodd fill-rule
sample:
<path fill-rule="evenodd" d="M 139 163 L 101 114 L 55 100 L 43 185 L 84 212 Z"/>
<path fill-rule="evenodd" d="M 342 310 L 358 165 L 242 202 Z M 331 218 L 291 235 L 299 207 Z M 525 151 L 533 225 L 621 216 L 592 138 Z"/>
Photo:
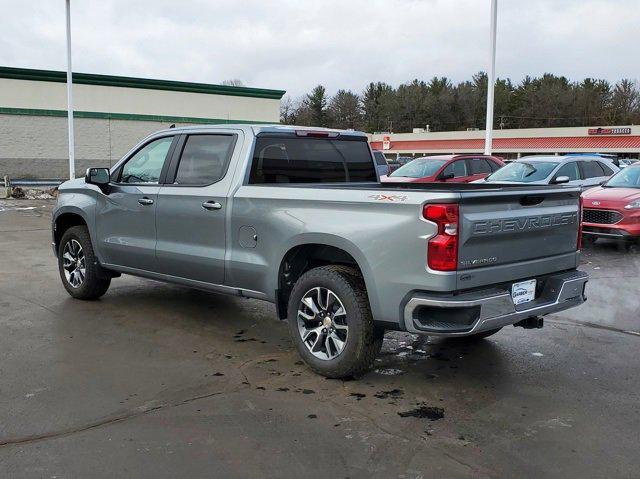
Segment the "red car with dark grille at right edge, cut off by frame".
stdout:
<path fill-rule="evenodd" d="M 582 233 L 592 239 L 640 239 L 640 164 L 582 194 Z"/>

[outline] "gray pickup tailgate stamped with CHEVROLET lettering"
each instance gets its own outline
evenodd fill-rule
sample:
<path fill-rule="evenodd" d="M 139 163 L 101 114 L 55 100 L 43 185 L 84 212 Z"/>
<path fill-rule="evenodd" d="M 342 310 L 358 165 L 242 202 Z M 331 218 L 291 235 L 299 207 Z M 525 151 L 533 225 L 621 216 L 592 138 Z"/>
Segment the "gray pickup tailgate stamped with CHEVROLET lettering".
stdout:
<path fill-rule="evenodd" d="M 460 195 L 460 289 L 577 266 L 579 189 L 523 187 Z"/>

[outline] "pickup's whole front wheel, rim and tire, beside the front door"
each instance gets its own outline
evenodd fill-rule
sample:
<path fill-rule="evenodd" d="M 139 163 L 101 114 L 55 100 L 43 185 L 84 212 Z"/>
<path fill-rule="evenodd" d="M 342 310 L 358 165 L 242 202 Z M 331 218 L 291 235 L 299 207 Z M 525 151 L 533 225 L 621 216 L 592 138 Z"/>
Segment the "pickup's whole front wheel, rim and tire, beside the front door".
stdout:
<path fill-rule="evenodd" d="M 97 299 L 107 292 L 110 278 L 100 274 L 86 226 L 65 231 L 58 246 L 58 270 L 67 292 L 77 299 Z"/>

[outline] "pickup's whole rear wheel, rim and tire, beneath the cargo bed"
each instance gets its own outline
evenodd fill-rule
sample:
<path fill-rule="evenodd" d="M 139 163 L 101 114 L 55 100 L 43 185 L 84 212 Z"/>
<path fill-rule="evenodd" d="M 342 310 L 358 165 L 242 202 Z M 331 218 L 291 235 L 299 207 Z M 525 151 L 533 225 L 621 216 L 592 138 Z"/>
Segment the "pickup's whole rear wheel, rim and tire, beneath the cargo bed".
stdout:
<path fill-rule="evenodd" d="M 373 324 L 364 281 L 353 268 L 322 266 L 303 274 L 287 318 L 300 356 L 328 378 L 361 375 L 382 347 L 384 332 Z"/>

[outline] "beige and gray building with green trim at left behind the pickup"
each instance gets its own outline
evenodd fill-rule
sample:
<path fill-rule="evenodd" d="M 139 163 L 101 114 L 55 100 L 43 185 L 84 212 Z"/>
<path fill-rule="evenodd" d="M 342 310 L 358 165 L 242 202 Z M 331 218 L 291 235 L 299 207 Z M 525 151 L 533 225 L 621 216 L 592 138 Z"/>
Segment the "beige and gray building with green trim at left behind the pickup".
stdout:
<path fill-rule="evenodd" d="M 109 167 L 151 132 L 278 123 L 283 90 L 73 74 L 76 174 Z M 0 67 L 0 177 L 68 177 L 66 73 Z"/>

